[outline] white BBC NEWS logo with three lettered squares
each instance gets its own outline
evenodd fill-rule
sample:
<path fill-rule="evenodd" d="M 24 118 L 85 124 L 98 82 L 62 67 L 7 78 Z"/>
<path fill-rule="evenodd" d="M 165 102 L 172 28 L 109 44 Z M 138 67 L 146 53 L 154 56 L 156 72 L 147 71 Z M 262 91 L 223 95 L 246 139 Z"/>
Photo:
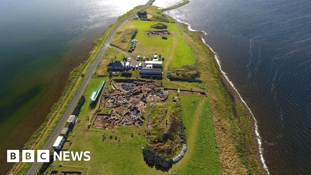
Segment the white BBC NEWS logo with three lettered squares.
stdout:
<path fill-rule="evenodd" d="M 35 162 L 35 150 L 22 150 L 22 162 Z M 71 157 L 71 158 L 70 158 Z M 82 159 L 83 158 L 83 159 Z M 62 151 L 53 152 L 53 159 L 60 161 L 89 161 L 91 159 L 89 151 L 73 152 L 73 151 Z M 49 150 L 37 150 L 37 161 L 38 162 L 49 162 L 50 151 Z M 19 150 L 7 150 L 7 162 L 20 162 Z"/>

